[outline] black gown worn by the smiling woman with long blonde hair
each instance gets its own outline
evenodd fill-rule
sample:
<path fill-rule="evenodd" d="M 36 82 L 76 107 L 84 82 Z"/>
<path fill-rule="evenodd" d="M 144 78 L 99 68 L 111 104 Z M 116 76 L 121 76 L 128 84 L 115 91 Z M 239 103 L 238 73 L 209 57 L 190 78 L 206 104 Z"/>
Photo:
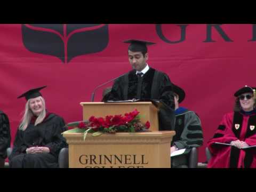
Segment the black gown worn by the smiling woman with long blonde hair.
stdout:
<path fill-rule="evenodd" d="M 61 135 L 66 131 L 65 122 L 55 114 L 47 114 L 37 126 L 32 122 L 25 131 L 17 131 L 9 157 L 10 167 L 58 167 L 59 152 L 67 147 L 66 139 Z M 26 154 L 26 149 L 34 146 L 49 147 L 50 153 Z"/>

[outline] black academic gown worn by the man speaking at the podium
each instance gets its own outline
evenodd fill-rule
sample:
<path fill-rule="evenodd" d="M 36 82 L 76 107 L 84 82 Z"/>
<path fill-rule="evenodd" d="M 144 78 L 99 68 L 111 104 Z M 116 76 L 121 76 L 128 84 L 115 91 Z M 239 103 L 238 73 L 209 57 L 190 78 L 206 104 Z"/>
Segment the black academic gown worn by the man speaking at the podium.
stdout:
<path fill-rule="evenodd" d="M 102 101 L 118 101 L 130 99 L 157 99 L 165 103 L 159 111 L 159 130 L 174 130 L 174 97 L 170 78 L 160 71 L 149 68 L 142 76 L 141 95 L 138 98 L 139 77 L 132 70 L 118 78 L 111 92 L 105 95 Z"/>

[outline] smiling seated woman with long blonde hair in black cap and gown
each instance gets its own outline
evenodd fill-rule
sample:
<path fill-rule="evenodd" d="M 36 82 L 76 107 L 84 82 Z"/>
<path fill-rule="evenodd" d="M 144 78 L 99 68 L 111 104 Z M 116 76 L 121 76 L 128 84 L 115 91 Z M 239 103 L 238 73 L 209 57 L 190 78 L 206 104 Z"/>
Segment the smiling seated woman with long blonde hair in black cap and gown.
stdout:
<path fill-rule="evenodd" d="M 58 167 L 60 149 L 67 147 L 61 133 L 65 131 L 63 119 L 49 113 L 39 90 L 29 90 L 18 98 L 27 100 L 25 113 L 15 136 L 10 167 Z"/>

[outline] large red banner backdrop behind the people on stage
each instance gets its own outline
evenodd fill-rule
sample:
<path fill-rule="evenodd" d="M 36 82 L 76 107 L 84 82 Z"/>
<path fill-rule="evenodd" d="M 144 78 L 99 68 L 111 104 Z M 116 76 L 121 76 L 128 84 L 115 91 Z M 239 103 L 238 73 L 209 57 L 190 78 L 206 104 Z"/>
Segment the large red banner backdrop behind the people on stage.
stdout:
<path fill-rule="evenodd" d="M 185 89 L 181 106 L 200 116 L 199 162 L 204 162 L 206 142 L 233 109 L 234 92 L 256 86 L 255 31 L 252 24 L 2 24 L 0 108 L 10 118 L 12 142 L 26 102 L 18 95 L 47 85 L 42 90 L 47 109 L 66 122 L 79 121 L 79 103 L 89 102 L 96 86 L 131 69 L 122 42 L 137 38 L 157 43 L 149 47 L 149 66 Z M 95 101 L 101 94 L 102 89 Z"/>

